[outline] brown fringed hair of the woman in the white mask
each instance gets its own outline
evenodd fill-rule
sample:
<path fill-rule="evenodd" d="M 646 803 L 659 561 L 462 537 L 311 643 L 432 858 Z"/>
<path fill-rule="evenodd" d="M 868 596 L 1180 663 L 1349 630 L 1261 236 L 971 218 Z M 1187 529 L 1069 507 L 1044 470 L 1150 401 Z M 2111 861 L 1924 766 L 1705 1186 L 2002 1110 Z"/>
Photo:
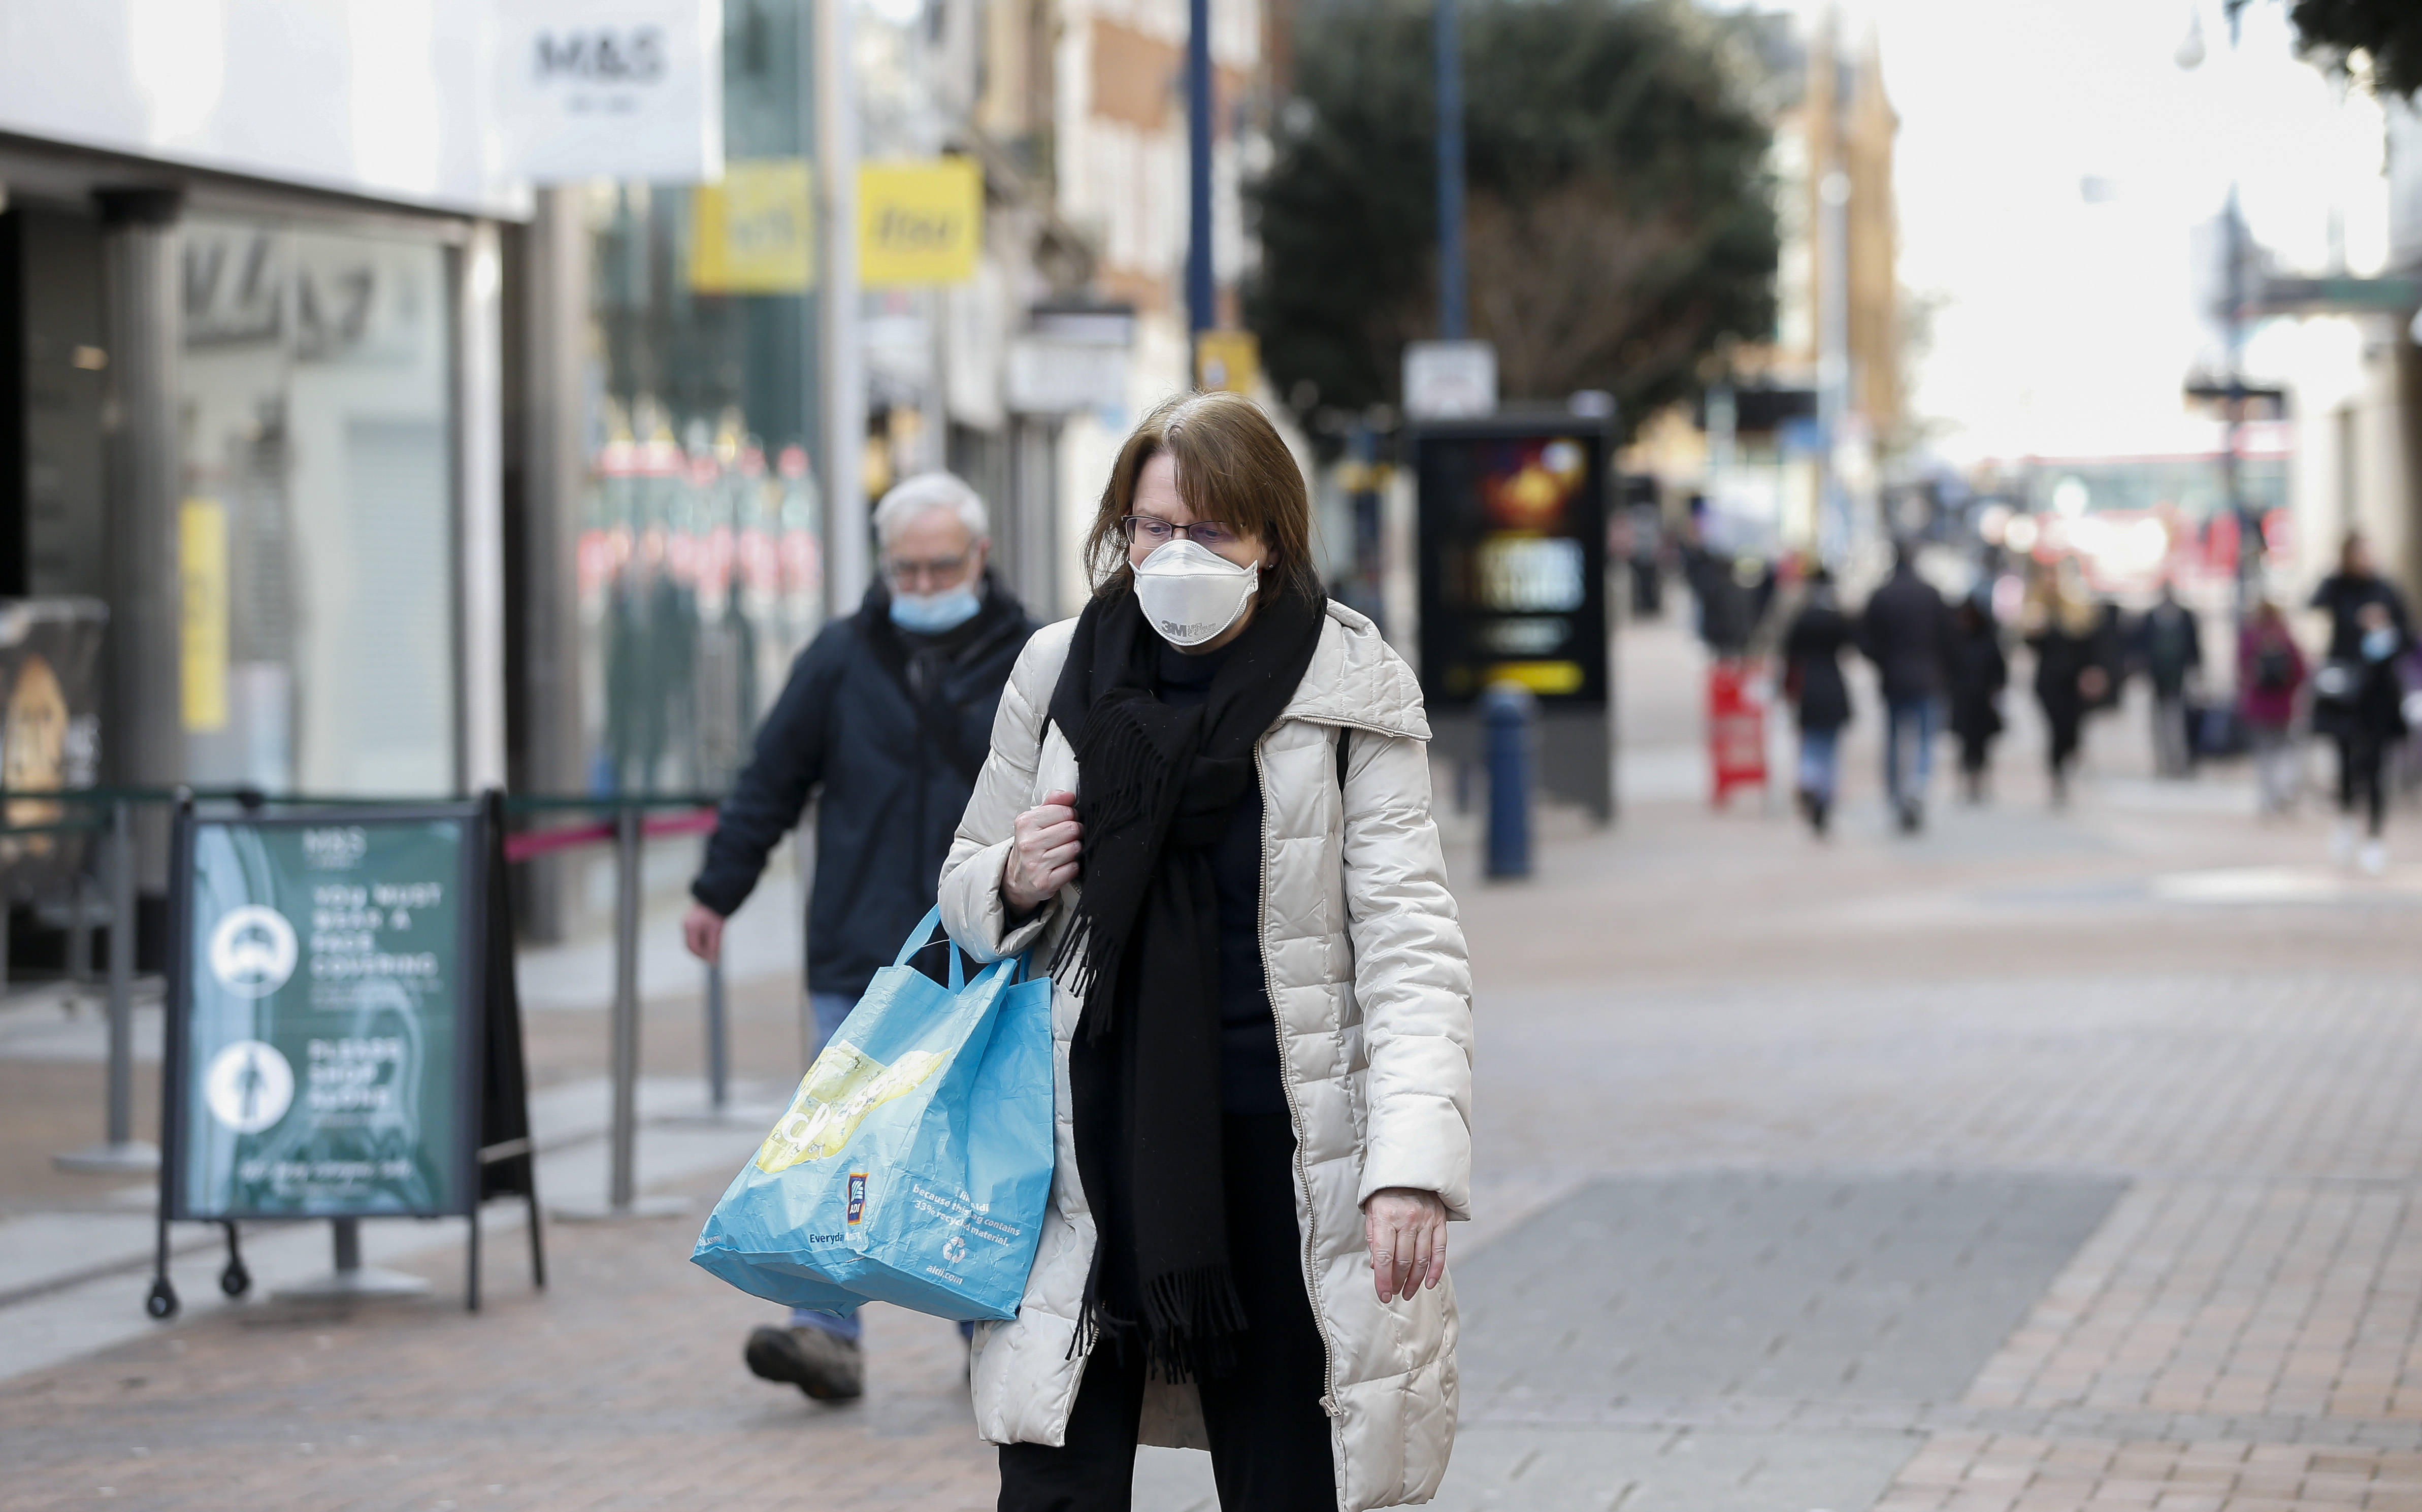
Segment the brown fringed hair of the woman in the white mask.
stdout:
<path fill-rule="evenodd" d="M 1177 458 L 1177 497 L 1194 519 L 1257 536 L 1269 548 L 1272 589 L 1322 596 L 1303 470 L 1262 407 L 1223 390 L 1163 400 L 1119 448 L 1102 509 L 1085 531 L 1085 572 L 1095 594 L 1117 594 L 1131 577 L 1119 521 L 1136 511 L 1136 480 L 1163 451 Z"/>

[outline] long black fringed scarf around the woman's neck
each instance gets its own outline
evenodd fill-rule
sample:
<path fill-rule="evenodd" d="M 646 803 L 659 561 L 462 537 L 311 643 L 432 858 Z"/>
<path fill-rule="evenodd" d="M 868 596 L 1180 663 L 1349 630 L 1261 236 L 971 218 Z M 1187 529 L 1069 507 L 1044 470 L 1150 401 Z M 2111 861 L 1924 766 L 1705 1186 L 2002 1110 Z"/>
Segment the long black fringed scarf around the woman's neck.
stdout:
<path fill-rule="evenodd" d="M 1276 591 L 1201 708 L 1155 695 L 1160 635 L 1133 589 L 1078 615 L 1051 720 L 1075 749 L 1083 897 L 1054 974 L 1085 1003 L 1068 1049 L 1075 1168 L 1100 1233 L 1075 1350 L 1141 1335 L 1170 1381 L 1218 1374 L 1245 1325 L 1221 1173 L 1218 887 L 1211 853 L 1257 783 L 1325 606 Z"/>

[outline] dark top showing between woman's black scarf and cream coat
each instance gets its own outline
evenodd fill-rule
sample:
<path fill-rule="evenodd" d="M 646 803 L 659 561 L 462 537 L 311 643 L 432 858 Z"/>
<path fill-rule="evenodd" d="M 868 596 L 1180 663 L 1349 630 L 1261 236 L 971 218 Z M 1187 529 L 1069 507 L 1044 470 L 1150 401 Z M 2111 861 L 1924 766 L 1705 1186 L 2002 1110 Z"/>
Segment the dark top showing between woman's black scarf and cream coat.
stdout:
<path fill-rule="evenodd" d="M 1158 695 L 1170 708 L 1211 700 L 1228 647 L 1192 657 L 1160 647 Z M 1279 1081 L 1279 1025 L 1262 969 L 1262 780 L 1255 771 L 1245 797 L 1228 809 L 1228 829 L 1211 850 L 1218 884 L 1218 1035 L 1221 1105 L 1226 1112 L 1286 1112 Z"/>

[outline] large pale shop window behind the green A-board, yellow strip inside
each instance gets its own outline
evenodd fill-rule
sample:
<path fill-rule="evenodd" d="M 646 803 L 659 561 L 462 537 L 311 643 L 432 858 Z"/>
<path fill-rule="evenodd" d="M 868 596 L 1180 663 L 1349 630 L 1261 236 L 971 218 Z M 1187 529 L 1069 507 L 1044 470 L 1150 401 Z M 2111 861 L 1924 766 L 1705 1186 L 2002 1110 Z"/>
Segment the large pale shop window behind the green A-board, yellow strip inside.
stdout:
<path fill-rule="evenodd" d="M 446 250 L 184 225 L 186 773 L 455 790 Z"/>

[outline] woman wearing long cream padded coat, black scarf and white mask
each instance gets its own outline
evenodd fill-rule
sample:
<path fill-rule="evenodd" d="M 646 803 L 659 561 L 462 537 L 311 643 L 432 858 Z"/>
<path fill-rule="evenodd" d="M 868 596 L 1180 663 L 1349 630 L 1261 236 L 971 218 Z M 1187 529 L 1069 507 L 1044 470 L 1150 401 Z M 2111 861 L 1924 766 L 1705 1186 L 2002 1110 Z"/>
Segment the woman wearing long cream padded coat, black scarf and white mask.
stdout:
<path fill-rule="evenodd" d="M 1211 1449 L 1228 1512 L 1427 1502 L 1473 1035 L 1419 688 L 1250 400 L 1146 417 L 1087 562 L 942 867 L 962 947 L 1056 979 L 1051 1212 L 974 1342 L 1000 1507 L 1124 1512 L 1138 1442 Z"/>

